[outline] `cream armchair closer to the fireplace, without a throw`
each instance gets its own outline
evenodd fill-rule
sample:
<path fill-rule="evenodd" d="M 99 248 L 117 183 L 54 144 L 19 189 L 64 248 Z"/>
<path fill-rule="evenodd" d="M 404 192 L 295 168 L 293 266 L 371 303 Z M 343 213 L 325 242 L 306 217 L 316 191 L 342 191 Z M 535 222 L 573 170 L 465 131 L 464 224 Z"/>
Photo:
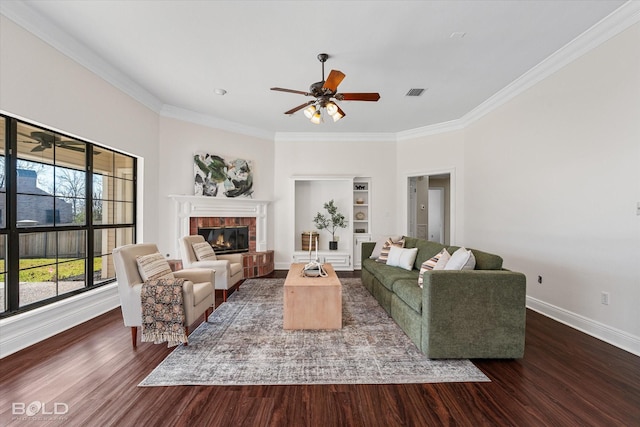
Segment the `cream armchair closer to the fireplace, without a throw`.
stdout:
<path fill-rule="evenodd" d="M 202 236 L 185 236 L 180 239 L 182 266 L 184 268 L 213 268 L 216 270 L 216 289 L 222 290 L 222 300 L 227 300 L 227 292 L 239 287 L 244 279 L 241 254 L 222 254 L 214 260 L 198 261 L 193 250 L 194 243 L 206 242 Z"/>

